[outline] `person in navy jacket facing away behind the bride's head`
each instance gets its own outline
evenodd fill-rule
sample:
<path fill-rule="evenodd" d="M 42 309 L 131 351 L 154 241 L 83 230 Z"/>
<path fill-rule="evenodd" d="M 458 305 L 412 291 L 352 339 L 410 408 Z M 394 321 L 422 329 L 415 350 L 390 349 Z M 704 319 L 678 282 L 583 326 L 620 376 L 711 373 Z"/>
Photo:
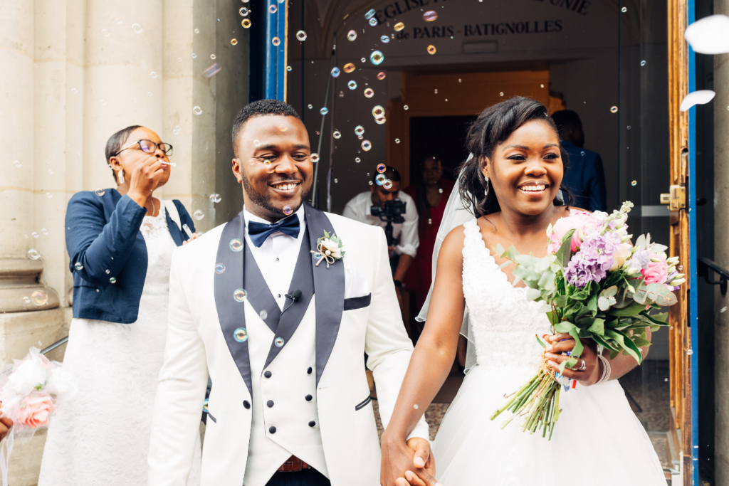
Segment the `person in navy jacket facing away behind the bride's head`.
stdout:
<path fill-rule="evenodd" d="M 569 154 L 569 168 L 562 184 L 570 189 L 577 208 L 607 211 L 605 172 L 600 154 L 587 150 L 580 115 L 572 110 L 555 111 L 552 119 L 559 129 L 562 146 Z"/>

